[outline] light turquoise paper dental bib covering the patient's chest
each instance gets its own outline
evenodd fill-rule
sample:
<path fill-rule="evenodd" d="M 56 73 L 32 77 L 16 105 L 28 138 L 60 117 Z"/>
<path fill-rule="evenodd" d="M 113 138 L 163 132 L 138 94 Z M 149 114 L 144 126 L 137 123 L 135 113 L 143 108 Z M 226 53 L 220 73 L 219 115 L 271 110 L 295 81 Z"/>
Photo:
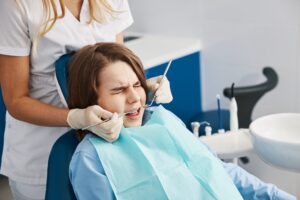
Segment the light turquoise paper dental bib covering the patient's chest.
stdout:
<path fill-rule="evenodd" d="M 117 199 L 242 199 L 220 161 L 162 106 L 113 143 L 90 141 Z"/>

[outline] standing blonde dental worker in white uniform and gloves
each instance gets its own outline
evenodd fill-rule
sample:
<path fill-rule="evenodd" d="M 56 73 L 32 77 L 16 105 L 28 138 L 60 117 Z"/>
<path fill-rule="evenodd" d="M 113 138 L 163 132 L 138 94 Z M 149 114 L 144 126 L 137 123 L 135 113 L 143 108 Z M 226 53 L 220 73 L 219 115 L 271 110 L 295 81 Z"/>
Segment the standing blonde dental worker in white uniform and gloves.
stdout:
<path fill-rule="evenodd" d="M 132 22 L 126 0 L 0 1 L 0 80 L 8 110 L 1 174 L 14 199 L 44 199 L 53 143 L 69 126 L 81 129 L 112 114 L 99 106 L 64 108 L 55 61 L 88 44 L 122 43 Z M 156 90 L 159 80 L 148 80 L 149 88 Z M 172 100 L 168 81 L 159 90 L 157 101 Z M 112 141 L 122 123 L 113 118 L 90 131 Z"/>

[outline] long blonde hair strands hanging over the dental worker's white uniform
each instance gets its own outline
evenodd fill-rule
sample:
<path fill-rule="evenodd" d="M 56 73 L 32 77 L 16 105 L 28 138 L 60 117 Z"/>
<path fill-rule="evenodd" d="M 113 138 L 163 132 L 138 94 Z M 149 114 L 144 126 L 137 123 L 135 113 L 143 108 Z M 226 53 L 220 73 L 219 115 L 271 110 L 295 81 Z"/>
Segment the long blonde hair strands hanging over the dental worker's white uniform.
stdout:
<path fill-rule="evenodd" d="M 18 1 L 18 0 L 17 0 Z M 42 0 L 44 9 L 44 19 L 42 27 L 38 36 L 33 42 L 34 49 L 40 39 L 49 32 L 55 22 L 65 16 L 65 0 L 59 0 L 59 6 L 61 8 L 61 14 L 58 14 L 58 5 L 56 5 L 56 0 Z M 106 23 L 109 17 L 115 18 L 115 11 L 112 6 L 108 3 L 108 0 L 88 0 L 89 1 L 89 12 L 90 19 L 87 23 L 91 23 L 93 20 L 99 23 Z M 53 13 L 53 16 L 51 14 Z"/>

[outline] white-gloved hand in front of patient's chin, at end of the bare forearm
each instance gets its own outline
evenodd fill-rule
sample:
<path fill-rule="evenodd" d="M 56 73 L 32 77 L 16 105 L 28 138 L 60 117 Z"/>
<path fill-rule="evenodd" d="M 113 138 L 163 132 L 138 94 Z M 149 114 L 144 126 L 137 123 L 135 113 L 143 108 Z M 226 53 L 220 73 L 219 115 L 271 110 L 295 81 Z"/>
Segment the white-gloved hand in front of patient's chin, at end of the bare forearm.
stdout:
<path fill-rule="evenodd" d="M 111 119 L 102 124 L 90 127 L 88 130 L 108 142 L 113 142 L 119 138 L 123 118 L 119 117 L 117 113 L 112 114 L 98 105 L 89 106 L 85 109 L 71 109 L 68 113 L 67 123 L 73 129 L 83 129 L 108 118 Z"/>

